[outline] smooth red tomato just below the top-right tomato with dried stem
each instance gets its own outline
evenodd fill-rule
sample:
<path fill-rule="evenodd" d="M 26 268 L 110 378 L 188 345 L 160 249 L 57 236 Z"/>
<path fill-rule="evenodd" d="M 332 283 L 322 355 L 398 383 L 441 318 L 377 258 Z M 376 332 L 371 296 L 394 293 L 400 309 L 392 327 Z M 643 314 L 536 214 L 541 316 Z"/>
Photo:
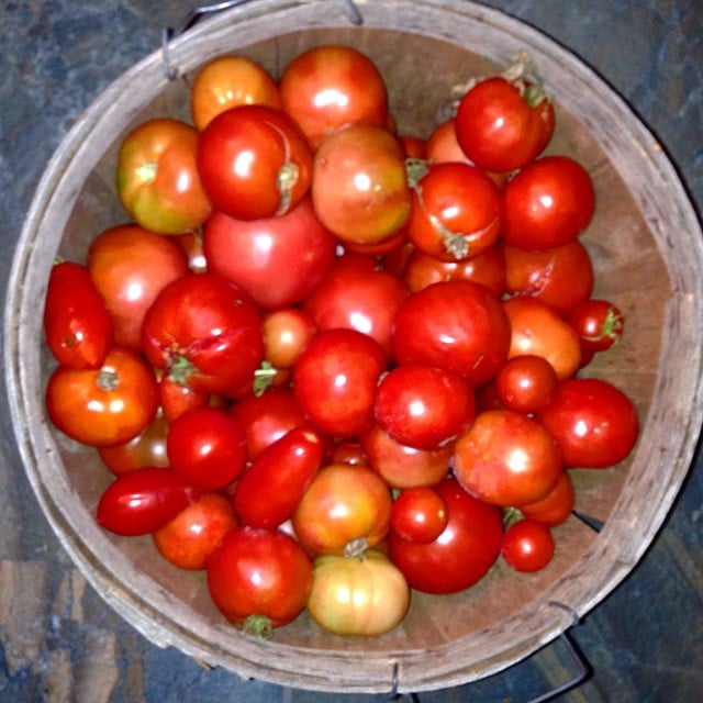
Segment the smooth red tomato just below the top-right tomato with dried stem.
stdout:
<path fill-rule="evenodd" d="M 503 189 L 506 244 L 548 249 L 576 239 L 595 210 L 587 170 L 568 156 L 545 156 L 512 178 Z"/>

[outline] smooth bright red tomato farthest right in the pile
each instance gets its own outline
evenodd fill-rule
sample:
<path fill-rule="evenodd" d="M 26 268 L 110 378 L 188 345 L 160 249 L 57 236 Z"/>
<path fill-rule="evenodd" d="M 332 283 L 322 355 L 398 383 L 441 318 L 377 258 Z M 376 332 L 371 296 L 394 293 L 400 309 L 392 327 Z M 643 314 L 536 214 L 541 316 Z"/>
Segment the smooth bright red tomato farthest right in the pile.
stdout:
<path fill-rule="evenodd" d="M 539 421 L 556 438 L 567 467 L 603 469 L 632 451 L 639 425 L 632 400 L 595 378 L 562 381 Z"/>

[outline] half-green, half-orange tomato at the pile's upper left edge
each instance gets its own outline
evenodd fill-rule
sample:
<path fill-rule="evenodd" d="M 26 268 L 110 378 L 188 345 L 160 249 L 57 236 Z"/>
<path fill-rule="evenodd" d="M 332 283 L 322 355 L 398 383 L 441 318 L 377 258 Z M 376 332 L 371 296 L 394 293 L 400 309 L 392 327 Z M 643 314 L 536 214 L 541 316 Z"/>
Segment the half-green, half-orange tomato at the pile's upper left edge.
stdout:
<path fill-rule="evenodd" d="M 170 118 L 148 120 L 124 137 L 118 194 L 131 217 L 159 234 L 199 227 L 212 212 L 196 154 L 198 131 Z"/>

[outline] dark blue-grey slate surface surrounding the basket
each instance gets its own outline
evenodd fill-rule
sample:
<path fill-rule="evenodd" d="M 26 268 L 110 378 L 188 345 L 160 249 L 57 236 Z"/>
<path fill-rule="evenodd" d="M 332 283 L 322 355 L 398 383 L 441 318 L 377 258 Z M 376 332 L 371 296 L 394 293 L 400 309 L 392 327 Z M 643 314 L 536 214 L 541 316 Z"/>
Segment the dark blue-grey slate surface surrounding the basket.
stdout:
<path fill-rule="evenodd" d="M 194 3 L 193 3 L 194 4 Z M 700 0 L 493 0 L 570 47 L 657 134 L 703 205 Z M 51 154 L 90 101 L 178 25 L 186 0 L 3 0 L 0 4 L 0 226 L 11 253 Z M 58 546 L 20 465 L 0 393 L 0 701 L 360 703 L 208 671 L 136 634 L 86 585 Z M 573 636 L 593 676 L 569 702 L 703 700 L 703 467 L 694 461 L 645 558 Z M 423 702 L 526 701 L 567 680 L 560 644 L 479 683 Z"/>

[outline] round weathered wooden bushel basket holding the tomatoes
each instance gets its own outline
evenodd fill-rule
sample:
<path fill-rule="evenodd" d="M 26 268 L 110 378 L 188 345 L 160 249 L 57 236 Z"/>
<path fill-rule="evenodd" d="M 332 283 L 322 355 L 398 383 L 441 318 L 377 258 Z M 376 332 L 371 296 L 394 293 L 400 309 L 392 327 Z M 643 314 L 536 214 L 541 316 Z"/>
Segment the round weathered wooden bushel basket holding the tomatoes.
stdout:
<path fill-rule="evenodd" d="M 355 7 L 362 24 L 350 14 Z M 357 20 L 359 18 L 356 18 Z M 587 372 L 635 401 L 641 434 L 626 461 L 572 470 L 577 517 L 555 531 L 557 553 L 536 574 L 496 563 L 448 596 L 413 593 L 404 622 L 377 638 L 343 638 L 302 614 L 272 640 L 246 636 L 211 603 L 204 574 L 157 558 L 152 540 L 100 529 L 94 509 L 111 476 L 97 453 L 56 432 L 44 410 L 51 369 L 41 305 L 56 255 L 83 260 L 103 228 L 126 221 L 114 191 L 121 137 L 150 116 L 189 119 L 188 82 L 210 58 L 241 53 L 275 76 L 301 51 L 346 43 L 387 78 L 401 133 L 427 135 L 451 88 L 534 60 L 557 104 L 549 153 L 579 159 L 596 189 L 582 237 L 594 294 L 623 310 L 620 345 Z M 423 691 L 466 683 L 527 657 L 583 616 L 629 573 L 668 513 L 692 460 L 702 417 L 703 237 L 679 178 L 652 135 L 589 68 L 540 33 L 459 0 L 252 0 L 199 22 L 104 91 L 56 152 L 29 212 L 9 284 L 5 364 L 13 424 L 29 479 L 86 578 L 148 639 L 243 677 L 322 691 Z M 553 603 L 566 607 L 555 607 Z M 395 677 L 395 679 L 394 679 Z"/>

